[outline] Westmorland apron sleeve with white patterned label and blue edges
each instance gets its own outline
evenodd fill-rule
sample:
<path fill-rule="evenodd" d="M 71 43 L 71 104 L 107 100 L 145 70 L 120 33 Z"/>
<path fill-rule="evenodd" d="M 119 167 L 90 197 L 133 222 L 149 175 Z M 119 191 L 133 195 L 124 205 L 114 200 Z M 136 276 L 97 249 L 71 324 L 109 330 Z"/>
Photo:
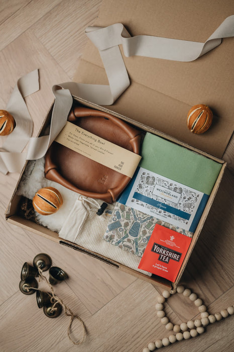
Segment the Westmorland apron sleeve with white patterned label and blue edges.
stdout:
<path fill-rule="evenodd" d="M 118 202 L 193 233 L 207 199 L 202 192 L 139 167 Z"/>

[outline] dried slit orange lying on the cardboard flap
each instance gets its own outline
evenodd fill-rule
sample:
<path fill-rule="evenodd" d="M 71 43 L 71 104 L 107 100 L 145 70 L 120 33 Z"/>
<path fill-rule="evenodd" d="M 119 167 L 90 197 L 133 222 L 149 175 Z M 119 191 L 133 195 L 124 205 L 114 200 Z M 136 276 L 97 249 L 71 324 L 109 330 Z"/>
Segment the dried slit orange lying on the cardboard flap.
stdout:
<path fill-rule="evenodd" d="M 203 104 L 194 105 L 187 115 L 187 126 L 192 133 L 201 134 L 208 130 L 213 114 L 210 108 Z"/>

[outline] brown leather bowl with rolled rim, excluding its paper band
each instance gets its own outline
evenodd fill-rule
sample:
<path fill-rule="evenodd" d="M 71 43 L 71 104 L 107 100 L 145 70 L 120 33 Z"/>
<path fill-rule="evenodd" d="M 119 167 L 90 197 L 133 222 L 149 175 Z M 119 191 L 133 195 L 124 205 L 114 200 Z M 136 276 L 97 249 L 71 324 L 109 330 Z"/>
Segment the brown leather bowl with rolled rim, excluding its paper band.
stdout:
<path fill-rule="evenodd" d="M 139 154 L 141 132 L 108 113 L 72 108 L 68 121 L 125 149 Z M 45 177 L 91 198 L 112 203 L 128 185 L 130 178 L 57 142 L 45 156 Z"/>

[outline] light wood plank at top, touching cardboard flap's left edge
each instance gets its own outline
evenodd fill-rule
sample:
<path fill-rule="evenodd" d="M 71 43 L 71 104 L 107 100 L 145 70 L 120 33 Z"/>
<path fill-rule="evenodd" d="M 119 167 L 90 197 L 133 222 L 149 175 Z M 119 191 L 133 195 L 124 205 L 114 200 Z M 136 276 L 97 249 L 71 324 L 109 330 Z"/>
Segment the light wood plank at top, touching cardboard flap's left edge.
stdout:
<path fill-rule="evenodd" d="M 72 78 L 84 50 L 84 30 L 98 14 L 100 0 L 67 0 L 43 16 L 33 27 L 35 35 Z"/>

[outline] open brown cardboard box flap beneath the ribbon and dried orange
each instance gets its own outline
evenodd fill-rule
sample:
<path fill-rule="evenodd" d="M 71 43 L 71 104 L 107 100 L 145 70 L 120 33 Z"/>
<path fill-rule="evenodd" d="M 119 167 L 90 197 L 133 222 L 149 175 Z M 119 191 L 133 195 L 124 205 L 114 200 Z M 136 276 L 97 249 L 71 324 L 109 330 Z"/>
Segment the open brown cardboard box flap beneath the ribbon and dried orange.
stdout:
<path fill-rule="evenodd" d="M 95 25 L 120 22 L 132 36 L 205 42 L 233 13 L 234 4 L 228 0 L 104 0 Z M 131 85 L 108 109 L 221 157 L 233 131 L 233 40 L 223 39 L 221 45 L 192 62 L 127 58 L 122 51 Z M 90 41 L 74 80 L 108 84 L 98 50 Z M 211 128 L 203 135 L 193 135 L 187 129 L 187 112 L 195 104 L 208 105 L 215 115 Z"/>

